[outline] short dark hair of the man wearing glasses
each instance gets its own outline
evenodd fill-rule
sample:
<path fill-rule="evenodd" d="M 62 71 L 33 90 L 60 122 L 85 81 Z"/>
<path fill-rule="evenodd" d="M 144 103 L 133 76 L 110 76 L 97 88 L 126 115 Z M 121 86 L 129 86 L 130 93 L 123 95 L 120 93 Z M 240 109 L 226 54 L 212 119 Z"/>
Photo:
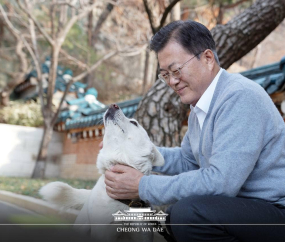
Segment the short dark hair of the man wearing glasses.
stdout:
<path fill-rule="evenodd" d="M 206 49 L 212 50 L 218 64 L 219 58 L 211 32 L 193 20 L 174 21 L 161 28 L 151 39 L 150 49 L 158 53 L 170 41 L 180 44 L 189 54 L 198 55 Z M 199 55 L 197 56 L 199 59 Z"/>

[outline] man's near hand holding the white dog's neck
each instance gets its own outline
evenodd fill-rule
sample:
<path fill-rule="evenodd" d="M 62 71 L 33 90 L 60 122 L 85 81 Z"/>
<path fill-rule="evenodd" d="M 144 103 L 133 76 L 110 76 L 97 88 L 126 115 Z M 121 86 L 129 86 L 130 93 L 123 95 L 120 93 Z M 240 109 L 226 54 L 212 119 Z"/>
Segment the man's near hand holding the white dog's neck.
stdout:
<path fill-rule="evenodd" d="M 115 165 L 105 172 L 106 192 L 113 199 L 139 198 L 140 171 L 124 165 Z"/>

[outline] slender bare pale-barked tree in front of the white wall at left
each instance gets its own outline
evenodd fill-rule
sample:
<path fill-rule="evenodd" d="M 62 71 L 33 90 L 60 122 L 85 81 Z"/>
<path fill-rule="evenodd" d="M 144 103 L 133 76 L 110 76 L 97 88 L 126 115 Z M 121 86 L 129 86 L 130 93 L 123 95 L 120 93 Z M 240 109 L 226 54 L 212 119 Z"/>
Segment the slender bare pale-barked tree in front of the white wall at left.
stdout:
<path fill-rule="evenodd" d="M 37 71 L 37 81 L 39 84 L 39 97 L 41 100 L 41 111 L 44 118 L 44 132 L 32 177 L 44 178 L 47 149 L 52 137 L 53 127 L 57 121 L 58 114 L 60 112 L 61 106 L 63 104 L 63 101 L 67 95 L 70 86 L 72 85 L 73 82 L 81 80 L 82 78 L 87 76 L 90 72 L 94 71 L 103 61 L 117 54 L 117 51 L 116 50 L 110 51 L 109 53 L 105 54 L 102 58 L 97 60 L 95 63 L 93 63 L 93 65 L 90 67 L 86 65 L 88 68 L 86 71 L 72 78 L 66 87 L 66 90 L 61 98 L 59 106 L 55 109 L 52 100 L 55 90 L 57 66 L 58 66 L 58 59 L 60 52 L 63 52 L 63 54 L 68 56 L 70 59 L 79 63 L 79 61 L 76 58 L 68 55 L 62 50 L 62 45 L 72 26 L 78 20 L 84 18 L 86 15 L 88 15 L 88 13 L 90 13 L 94 8 L 96 8 L 98 2 L 93 4 L 84 4 L 84 1 L 79 1 L 79 2 L 73 1 L 72 3 L 70 3 L 69 1 L 58 2 L 56 0 L 53 0 L 48 5 L 49 14 L 50 14 L 49 18 L 51 23 L 50 33 L 48 33 L 48 31 L 46 31 L 46 29 L 43 27 L 44 24 L 38 21 L 38 19 L 34 16 L 32 12 L 34 6 L 32 5 L 31 1 L 25 0 L 23 3 L 22 1 L 17 0 L 17 3 L 22 13 L 26 15 L 26 17 L 21 18 L 21 21 L 24 22 L 25 20 L 27 20 L 25 22 L 25 25 L 29 27 L 31 41 L 27 41 L 25 39 L 23 32 L 20 32 L 15 28 L 15 26 L 13 26 L 12 22 L 7 17 L 7 14 L 2 6 L 0 6 L 0 10 L 2 18 L 6 23 L 6 26 L 8 26 L 11 33 L 18 40 L 18 43 L 20 43 L 21 47 L 19 48 L 20 51 L 22 51 L 23 46 L 25 46 L 25 48 L 28 50 L 28 53 L 32 57 L 32 60 L 34 62 Z M 72 11 L 72 15 L 69 19 L 67 17 L 66 7 L 75 10 Z M 50 46 L 51 60 L 50 60 L 50 69 L 48 76 L 49 84 L 46 94 L 43 91 L 43 82 L 42 82 L 43 75 L 40 68 L 40 55 L 38 50 L 37 36 L 42 36 Z M 22 52 L 19 52 L 19 55 L 23 54 Z M 22 68 L 19 73 L 24 75 L 26 70 L 27 70 L 26 67 Z"/>

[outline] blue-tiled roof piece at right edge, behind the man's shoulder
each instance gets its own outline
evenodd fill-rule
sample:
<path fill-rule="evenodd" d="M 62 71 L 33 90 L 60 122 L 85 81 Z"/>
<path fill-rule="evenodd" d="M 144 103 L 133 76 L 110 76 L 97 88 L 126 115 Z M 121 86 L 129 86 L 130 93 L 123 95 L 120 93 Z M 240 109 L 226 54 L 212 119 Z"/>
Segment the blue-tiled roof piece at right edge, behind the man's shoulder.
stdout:
<path fill-rule="evenodd" d="M 271 95 L 285 90 L 285 56 L 280 62 L 241 72 L 243 76 L 255 81 Z"/>

